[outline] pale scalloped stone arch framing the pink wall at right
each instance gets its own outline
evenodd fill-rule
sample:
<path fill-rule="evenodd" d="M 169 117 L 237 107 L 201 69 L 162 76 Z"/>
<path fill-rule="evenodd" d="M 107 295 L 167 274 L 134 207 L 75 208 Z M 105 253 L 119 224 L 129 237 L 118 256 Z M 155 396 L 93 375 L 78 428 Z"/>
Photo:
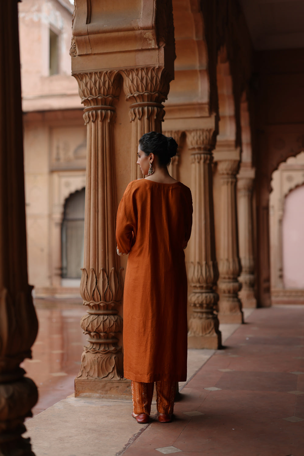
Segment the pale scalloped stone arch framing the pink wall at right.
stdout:
<path fill-rule="evenodd" d="M 283 218 L 286 197 L 304 183 L 304 151 L 289 156 L 272 173 L 269 196 L 272 299 L 288 299 L 283 283 Z M 290 293 L 289 293 L 290 294 Z"/>

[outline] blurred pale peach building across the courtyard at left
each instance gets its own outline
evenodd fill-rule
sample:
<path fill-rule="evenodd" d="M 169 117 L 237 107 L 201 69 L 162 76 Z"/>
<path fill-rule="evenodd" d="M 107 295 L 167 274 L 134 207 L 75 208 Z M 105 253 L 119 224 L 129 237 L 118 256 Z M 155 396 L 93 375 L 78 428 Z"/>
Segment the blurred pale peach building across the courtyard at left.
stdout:
<path fill-rule="evenodd" d="M 19 3 L 29 281 L 36 296 L 78 296 L 86 128 L 69 50 L 68 0 Z"/>

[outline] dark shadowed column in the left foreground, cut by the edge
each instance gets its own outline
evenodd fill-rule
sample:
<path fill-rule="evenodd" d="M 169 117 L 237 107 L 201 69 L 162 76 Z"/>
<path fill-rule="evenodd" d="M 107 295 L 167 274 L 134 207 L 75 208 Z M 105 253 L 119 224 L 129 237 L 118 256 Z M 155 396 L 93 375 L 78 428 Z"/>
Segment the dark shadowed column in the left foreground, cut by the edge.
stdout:
<path fill-rule="evenodd" d="M 23 424 L 38 393 L 20 363 L 38 330 L 28 285 L 17 1 L 0 2 L 0 454 L 34 456 Z"/>

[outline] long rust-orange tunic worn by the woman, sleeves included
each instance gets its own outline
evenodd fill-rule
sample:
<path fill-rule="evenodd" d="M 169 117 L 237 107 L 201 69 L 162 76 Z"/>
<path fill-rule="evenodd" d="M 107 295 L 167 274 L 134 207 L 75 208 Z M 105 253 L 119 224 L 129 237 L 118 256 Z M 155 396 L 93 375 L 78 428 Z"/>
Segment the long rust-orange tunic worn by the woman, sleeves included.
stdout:
<path fill-rule="evenodd" d="M 124 377 L 136 382 L 187 377 L 187 276 L 191 191 L 181 182 L 129 183 L 117 212 L 124 283 Z"/>

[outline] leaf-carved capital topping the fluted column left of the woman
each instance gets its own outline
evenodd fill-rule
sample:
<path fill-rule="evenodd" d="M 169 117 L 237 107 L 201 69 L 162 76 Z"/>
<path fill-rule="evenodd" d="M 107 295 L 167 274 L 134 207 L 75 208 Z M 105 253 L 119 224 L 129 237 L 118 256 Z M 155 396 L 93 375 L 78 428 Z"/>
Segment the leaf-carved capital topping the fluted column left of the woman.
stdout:
<path fill-rule="evenodd" d="M 91 120 L 108 122 L 114 118 L 114 101 L 119 97 L 118 72 L 116 70 L 73 73 L 78 83 L 78 92 L 84 105 L 85 124 Z"/>

